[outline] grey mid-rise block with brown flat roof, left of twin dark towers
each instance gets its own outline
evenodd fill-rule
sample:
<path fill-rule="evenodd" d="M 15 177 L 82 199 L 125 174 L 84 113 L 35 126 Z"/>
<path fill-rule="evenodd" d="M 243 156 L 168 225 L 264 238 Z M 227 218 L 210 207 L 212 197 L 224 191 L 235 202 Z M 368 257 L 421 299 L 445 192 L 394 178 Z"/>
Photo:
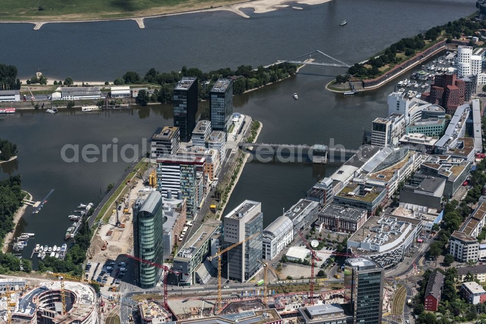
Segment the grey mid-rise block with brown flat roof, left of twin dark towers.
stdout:
<path fill-rule="evenodd" d="M 177 152 L 180 145 L 179 127 L 165 126 L 157 128 L 150 141 L 150 158 L 168 157 Z"/>

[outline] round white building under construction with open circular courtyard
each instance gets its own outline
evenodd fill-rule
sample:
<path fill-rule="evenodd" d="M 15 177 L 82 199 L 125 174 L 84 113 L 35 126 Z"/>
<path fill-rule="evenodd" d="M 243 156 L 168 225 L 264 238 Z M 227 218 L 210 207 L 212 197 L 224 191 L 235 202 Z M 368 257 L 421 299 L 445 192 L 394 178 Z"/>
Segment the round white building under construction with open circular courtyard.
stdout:
<path fill-rule="evenodd" d="M 45 283 L 18 298 L 12 319 L 16 323 L 98 324 L 96 292 L 90 285 L 65 281 L 66 313 L 62 313 L 61 283 Z"/>

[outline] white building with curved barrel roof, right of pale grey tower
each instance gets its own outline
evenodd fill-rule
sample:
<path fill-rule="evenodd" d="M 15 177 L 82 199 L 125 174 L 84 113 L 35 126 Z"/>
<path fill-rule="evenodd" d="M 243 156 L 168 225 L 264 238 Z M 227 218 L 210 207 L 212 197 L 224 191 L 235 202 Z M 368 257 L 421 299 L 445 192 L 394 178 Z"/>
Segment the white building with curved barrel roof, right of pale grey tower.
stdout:
<path fill-rule="evenodd" d="M 294 223 L 287 216 L 274 220 L 262 235 L 263 258 L 272 260 L 294 239 Z"/>

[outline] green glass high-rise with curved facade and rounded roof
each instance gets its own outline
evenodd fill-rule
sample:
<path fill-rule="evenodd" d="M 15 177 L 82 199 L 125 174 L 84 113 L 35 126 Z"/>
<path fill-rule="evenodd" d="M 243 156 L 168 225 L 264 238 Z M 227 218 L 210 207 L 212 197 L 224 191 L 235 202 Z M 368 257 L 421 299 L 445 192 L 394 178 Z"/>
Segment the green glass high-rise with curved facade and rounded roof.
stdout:
<path fill-rule="evenodd" d="M 164 261 L 163 228 L 164 210 L 162 196 L 152 191 L 144 200 L 138 199 L 133 207 L 133 251 L 140 259 L 162 264 Z M 136 267 L 141 288 L 154 288 L 160 268 L 139 262 Z"/>

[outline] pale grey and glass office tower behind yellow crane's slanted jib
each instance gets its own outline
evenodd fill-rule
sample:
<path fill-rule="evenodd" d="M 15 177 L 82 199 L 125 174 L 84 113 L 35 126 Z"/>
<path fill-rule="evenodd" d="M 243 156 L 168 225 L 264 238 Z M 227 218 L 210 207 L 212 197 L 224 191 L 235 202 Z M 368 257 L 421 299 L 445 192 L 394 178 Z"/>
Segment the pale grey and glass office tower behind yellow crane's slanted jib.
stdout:
<path fill-rule="evenodd" d="M 256 233 L 256 237 L 227 252 L 228 279 L 251 279 L 261 267 L 263 213 L 261 202 L 245 200 L 224 217 L 224 241 L 234 244 Z"/>

